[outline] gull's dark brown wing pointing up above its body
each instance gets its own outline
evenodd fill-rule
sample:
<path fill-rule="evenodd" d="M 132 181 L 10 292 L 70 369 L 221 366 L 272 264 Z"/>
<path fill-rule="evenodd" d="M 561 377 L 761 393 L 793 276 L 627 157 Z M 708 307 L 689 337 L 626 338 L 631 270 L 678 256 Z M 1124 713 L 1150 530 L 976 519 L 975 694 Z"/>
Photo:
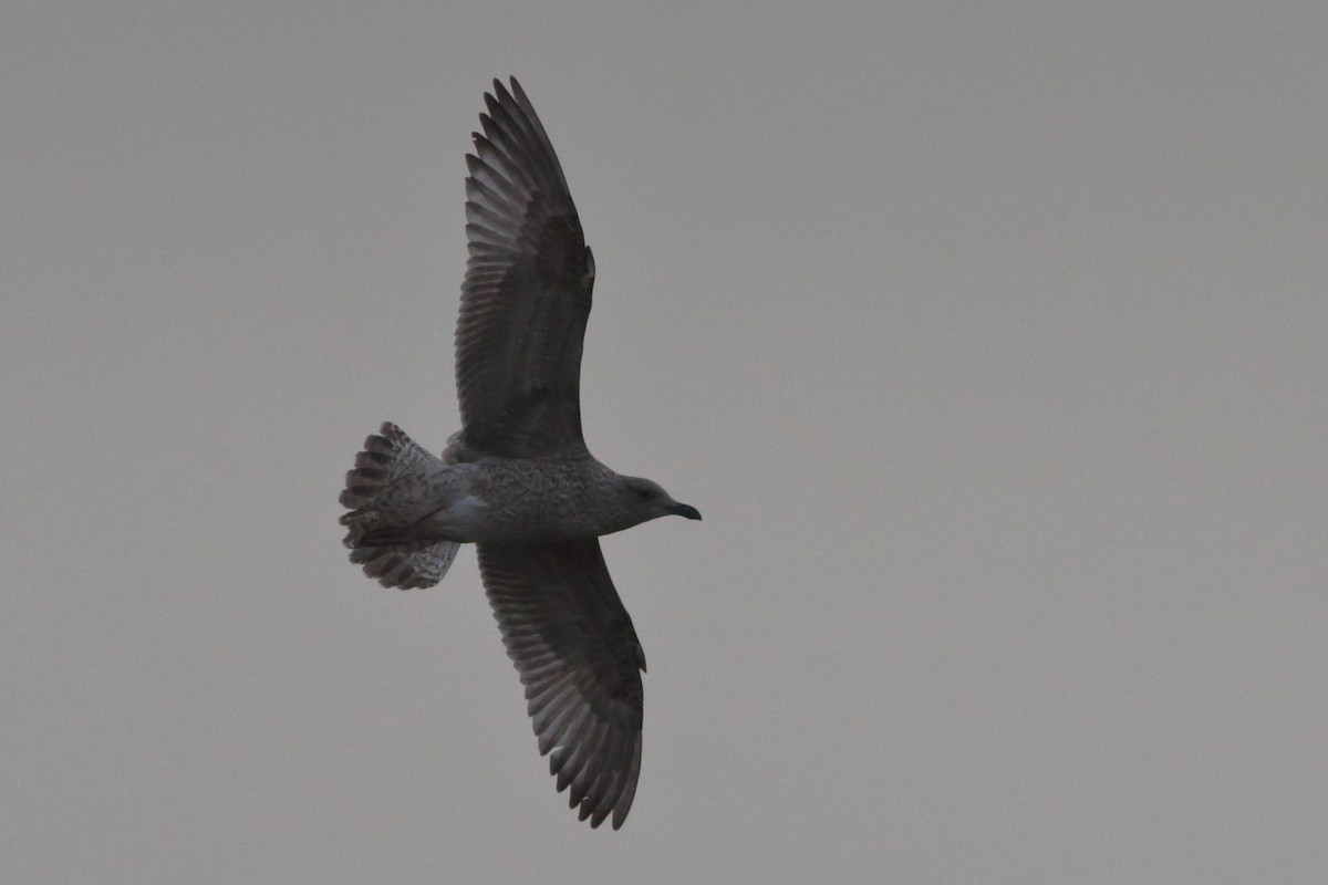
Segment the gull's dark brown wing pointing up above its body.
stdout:
<path fill-rule="evenodd" d="M 595 263 L 548 135 L 515 78 L 494 81 L 466 157 L 470 257 L 457 321 L 463 448 L 584 450 L 580 356 Z"/>

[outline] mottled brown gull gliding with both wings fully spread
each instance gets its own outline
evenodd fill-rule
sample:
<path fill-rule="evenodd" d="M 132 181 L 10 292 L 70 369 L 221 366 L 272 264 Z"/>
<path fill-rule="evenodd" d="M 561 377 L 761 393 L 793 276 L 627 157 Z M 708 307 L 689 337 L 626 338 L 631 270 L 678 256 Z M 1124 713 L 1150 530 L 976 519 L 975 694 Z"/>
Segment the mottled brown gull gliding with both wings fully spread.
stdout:
<path fill-rule="evenodd" d="M 599 537 L 701 519 L 582 438 L 580 357 L 595 260 L 554 147 L 515 78 L 494 81 L 466 157 L 470 256 L 457 321 L 462 427 L 434 456 L 382 425 L 345 475 L 351 561 L 432 586 L 474 543 L 540 755 L 591 827 L 623 825 L 641 768 L 645 655 Z"/>

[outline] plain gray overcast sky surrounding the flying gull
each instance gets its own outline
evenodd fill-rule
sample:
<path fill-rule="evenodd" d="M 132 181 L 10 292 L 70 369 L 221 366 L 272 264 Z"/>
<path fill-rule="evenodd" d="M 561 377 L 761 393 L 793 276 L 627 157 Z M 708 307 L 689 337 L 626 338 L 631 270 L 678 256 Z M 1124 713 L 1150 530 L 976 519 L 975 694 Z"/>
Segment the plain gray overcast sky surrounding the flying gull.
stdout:
<path fill-rule="evenodd" d="M 12 881 L 1296 882 L 1328 868 L 1328 8 L 0 12 Z M 645 645 L 623 831 L 463 551 L 345 561 L 457 427 L 494 76 L 598 264 Z"/>

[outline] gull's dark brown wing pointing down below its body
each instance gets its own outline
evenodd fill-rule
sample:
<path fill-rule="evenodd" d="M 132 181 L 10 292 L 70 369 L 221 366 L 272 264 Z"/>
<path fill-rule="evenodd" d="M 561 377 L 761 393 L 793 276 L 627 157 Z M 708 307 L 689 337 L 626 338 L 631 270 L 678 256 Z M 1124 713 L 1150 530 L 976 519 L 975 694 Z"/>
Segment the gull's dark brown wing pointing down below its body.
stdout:
<path fill-rule="evenodd" d="M 540 755 L 591 827 L 623 825 L 641 770 L 645 655 L 599 541 L 479 544 L 503 645 L 526 686 Z"/>

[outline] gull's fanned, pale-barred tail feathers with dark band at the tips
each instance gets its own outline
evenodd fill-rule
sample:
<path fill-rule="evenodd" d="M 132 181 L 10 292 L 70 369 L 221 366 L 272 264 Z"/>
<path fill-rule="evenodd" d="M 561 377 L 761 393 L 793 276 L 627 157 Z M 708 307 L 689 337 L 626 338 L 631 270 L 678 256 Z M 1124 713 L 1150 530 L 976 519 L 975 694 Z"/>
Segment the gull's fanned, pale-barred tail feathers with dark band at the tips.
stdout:
<path fill-rule="evenodd" d="M 364 567 L 364 573 L 382 586 L 433 586 L 448 573 L 459 545 L 393 543 L 392 536 L 402 527 L 392 519 L 396 503 L 392 499 L 398 480 L 426 475 L 445 464 L 393 423 L 384 423 L 378 433 L 364 441 L 364 451 L 355 456 L 355 468 L 347 472 L 341 492 L 341 506 L 351 511 L 340 520 L 349 529 L 345 545 L 351 548 L 351 561 Z"/>

